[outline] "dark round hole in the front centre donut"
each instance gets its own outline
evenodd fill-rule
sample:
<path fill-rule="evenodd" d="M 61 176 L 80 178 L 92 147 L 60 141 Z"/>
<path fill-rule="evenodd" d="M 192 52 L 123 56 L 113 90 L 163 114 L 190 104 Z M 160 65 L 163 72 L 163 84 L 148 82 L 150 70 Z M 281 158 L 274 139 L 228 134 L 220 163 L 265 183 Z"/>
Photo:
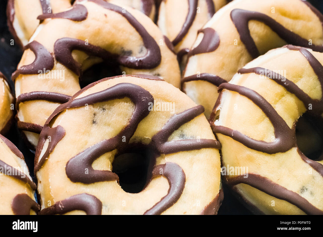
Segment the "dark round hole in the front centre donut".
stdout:
<path fill-rule="evenodd" d="M 119 185 L 127 193 L 140 193 L 149 181 L 150 167 L 155 163 L 153 151 L 145 146 L 117 154 L 112 172 L 119 176 Z"/>

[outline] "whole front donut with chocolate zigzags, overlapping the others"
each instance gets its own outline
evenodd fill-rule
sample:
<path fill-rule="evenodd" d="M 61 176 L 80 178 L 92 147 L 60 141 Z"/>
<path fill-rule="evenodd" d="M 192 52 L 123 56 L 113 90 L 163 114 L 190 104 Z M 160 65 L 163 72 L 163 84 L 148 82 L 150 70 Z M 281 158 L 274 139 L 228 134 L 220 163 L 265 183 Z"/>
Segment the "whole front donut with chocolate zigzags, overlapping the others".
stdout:
<path fill-rule="evenodd" d="M 57 107 L 40 134 L 40 214 L 215 214 L 223 199 L 220 144 L 203 111 L 150 75 L 89 84 Z M 138 193 L 125 192 L 114 173 L 129 153 L 149 160 Z"/>

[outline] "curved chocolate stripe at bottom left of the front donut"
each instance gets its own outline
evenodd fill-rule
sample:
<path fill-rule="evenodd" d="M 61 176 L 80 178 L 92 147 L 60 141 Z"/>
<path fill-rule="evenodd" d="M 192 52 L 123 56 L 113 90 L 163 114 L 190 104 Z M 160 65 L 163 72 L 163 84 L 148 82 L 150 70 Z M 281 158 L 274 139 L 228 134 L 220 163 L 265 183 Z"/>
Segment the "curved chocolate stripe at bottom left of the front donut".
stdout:
<path fill-rule="evenodd" d="M 84 211 L 87 215 L 101 215 L 102 202 L 95 196 L 82 193 L 71 196 L 39 212 L 40 215 L 65 214 L 71 211 Z"/>

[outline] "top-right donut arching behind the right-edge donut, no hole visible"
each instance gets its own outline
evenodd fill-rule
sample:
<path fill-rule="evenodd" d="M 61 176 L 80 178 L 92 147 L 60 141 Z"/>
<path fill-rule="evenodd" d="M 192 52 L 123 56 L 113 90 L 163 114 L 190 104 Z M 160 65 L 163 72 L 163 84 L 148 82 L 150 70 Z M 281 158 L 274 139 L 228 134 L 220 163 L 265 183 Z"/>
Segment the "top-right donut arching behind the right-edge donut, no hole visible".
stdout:
<path fill-rule="evenodd" d="M 209 117 L 217 87 L 268 50 L 294 44 L 323 52 L 323 16 L 302 0 L 234 0 L 198 35 L 182 79 L 182 90 Z"/>

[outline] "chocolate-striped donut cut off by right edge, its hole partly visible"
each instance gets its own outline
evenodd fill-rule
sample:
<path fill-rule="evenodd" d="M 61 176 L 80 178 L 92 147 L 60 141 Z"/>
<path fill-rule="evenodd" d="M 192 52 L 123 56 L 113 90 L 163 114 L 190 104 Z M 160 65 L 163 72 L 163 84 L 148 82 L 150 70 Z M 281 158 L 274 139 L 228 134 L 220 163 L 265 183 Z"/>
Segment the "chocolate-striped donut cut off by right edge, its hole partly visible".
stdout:
<path fill-rule="evenodd" d="M 305 113 L 322 124 L 322 63 L 322 53 L 287 45 L 219 86 L 210 124 L 222 166 L 248 167 L 247 175 L 226 169 L 224 181 L 256 213 L 323 214 L 323 157 L 306 157 L 295 133 Z"/>

